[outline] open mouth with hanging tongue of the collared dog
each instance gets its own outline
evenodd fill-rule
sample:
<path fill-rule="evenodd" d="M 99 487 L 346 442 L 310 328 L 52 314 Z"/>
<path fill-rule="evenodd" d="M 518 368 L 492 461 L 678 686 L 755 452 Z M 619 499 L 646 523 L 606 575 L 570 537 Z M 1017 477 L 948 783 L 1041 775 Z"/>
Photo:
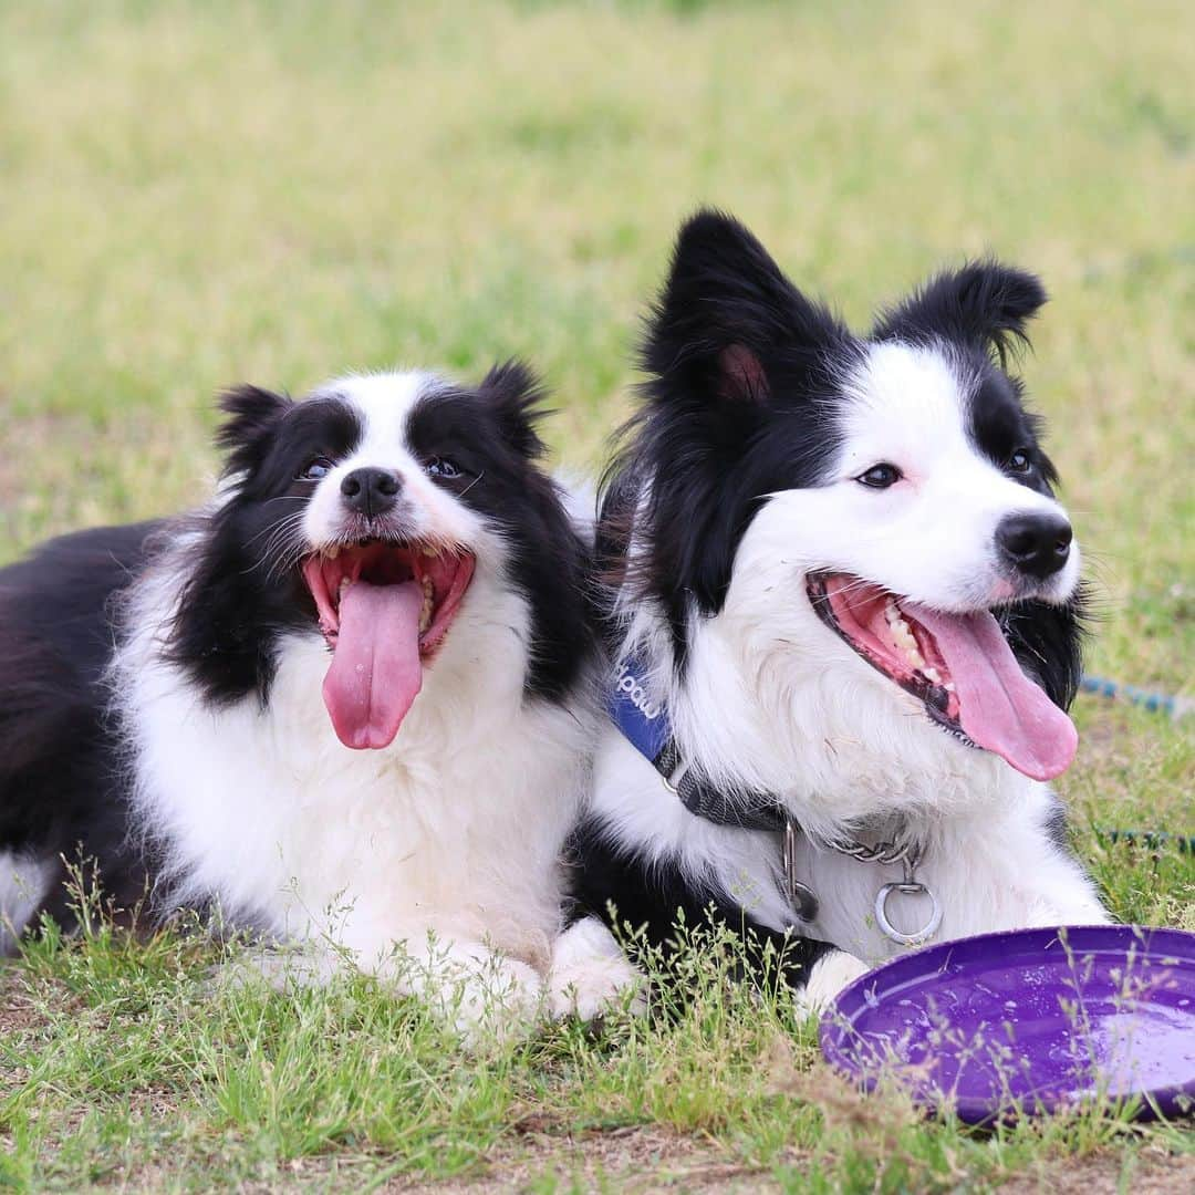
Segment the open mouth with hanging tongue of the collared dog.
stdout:
<path fill-rule="evenodd" d="M 943 614 L 841 572 L 811 574 L 805 587 L 822 621 L 938 725 L 1035 780 L 1070 766 L 1074 724 L 1025 675 L 991 613 Z"/>

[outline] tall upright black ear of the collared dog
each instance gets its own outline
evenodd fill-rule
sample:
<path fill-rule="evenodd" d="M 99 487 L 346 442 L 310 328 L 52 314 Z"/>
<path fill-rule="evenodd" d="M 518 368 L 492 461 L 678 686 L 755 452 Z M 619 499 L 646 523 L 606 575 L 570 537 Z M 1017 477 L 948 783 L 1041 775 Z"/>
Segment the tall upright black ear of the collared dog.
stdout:
<path fill-rule="evenodd" d="M 657 397 L 758 405 L 773 397 L 795 358 L 845 336 L 743 225 L 704 210 L 676 238 L 642 363 L 658 379 Z"/>

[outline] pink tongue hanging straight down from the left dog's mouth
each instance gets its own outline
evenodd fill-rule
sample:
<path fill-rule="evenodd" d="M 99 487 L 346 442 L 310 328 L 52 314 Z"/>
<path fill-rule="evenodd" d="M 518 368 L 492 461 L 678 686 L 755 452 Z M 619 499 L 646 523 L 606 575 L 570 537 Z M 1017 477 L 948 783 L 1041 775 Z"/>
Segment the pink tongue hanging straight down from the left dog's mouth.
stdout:
<path fill-rule="evenodd" d="M 341 630 L 324 704 L 345 747 L 388 747 L 419 686 L 423 589 L 357 581 L 341 599 Z"/>

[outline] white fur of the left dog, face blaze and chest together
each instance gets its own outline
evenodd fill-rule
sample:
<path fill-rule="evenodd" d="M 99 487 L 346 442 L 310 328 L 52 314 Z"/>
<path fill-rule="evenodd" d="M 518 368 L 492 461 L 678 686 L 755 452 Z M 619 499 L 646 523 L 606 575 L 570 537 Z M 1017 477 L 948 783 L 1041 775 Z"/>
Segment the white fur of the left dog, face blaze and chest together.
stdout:
<path fill-rule="evenodd" d="M 364 412 L 367 431 L 320 482 L 305 525 L 313 547 L 335 539 L 341 477 L 378 465 L 403 473 L 413 534 L 476 553 L 470 592 L 390 748 L 351 750 L 332 733 L 318 635 L 284 642 L 265 707 L 198 699 L 163 654 L 194 546 L 185 538 L 130 598 L 112 686 L 135 756 L 136 822 L 166 851 L 159 903 L 214 896 L 233 920 L 323 952 L 312 973 L 343 951 L 406 987 L 464 981 L 471 1022 L 495 994 L 520 1015 L 544 997 L 558 852 L 593 723 L 583 703 L 523 699 L 529 615 L 503 580 L 501 538 L 436 490 L 402 441 L 405 411 L 429 385 L 402 374 L 332 387 Z"/>

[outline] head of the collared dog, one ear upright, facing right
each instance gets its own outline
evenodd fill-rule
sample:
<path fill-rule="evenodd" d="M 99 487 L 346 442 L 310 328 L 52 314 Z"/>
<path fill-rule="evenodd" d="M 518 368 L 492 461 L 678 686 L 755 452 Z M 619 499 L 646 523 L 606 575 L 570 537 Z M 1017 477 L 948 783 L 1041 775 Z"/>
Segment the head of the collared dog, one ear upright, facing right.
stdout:
<path fill-rule="evenodd" d="M 905 721 L 912 704 L 915 734 L 1035 778 L 1067 766 L 1079 550 L 1009 372 L 1044 299 L 982 262 L 858 337 L 736 221 L 685 226 L 612 491 L 635 495 L 632 563 L 681 667 L 725 614 L 795 669 L 836 670 Z"/>

